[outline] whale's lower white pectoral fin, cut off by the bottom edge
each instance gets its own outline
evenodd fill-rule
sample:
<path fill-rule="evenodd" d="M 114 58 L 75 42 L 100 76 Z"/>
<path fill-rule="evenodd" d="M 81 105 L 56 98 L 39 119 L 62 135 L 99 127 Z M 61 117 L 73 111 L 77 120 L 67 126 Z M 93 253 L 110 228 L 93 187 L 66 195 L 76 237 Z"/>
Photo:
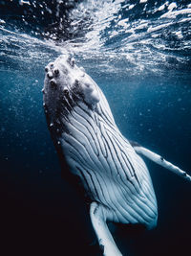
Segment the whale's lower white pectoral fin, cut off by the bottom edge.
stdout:
<path fill-rule="evenodd" d="M 103 255 L 122 256 L 107 226 L 107 216 L 104 206 L 96 202 L 92 202 L 90 206 L 90 217 L 96 232 L 98 244 L 103 250 Z"/>

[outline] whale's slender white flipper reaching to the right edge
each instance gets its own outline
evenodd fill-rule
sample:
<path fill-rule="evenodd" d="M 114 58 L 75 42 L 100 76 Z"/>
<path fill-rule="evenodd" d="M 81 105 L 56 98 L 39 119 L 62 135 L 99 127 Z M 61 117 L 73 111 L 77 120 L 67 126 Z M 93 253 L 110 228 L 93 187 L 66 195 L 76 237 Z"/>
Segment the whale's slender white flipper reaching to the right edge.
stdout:
<path fill-rule="evenodd" d="M 160 166 L 170 170 L 171 172 L 175 173 L 176 175 L 180 175 L 181 177 L 191 181 L 191 176 L 187 175 L 186 172 L 180 170 L 179 167 L 173 165 L 172 163 L 166 161 L 162 156 L 159 154 L 149 151 L 143 147 L 135 146 L 134 150 L 139 154 L 142 154 L 149 158 L 150 160 L 154 161 L 155 163 L 159 164 Z"/>

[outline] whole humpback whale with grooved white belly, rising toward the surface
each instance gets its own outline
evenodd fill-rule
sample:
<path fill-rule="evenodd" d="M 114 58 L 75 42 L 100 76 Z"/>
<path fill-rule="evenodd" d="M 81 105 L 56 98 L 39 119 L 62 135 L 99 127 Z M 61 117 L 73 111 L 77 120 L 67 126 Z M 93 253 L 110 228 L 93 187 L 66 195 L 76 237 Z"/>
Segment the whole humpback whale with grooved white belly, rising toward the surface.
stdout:
<path fill-rule="evenodd" d="M 158 206 L 144 155 L 191 181 L 159 154 L 119 131 L 96 81 L 62 55 L 45 68 L 43 105 L 55 149 L 91 200 L 90 217 L 105 256 L 122 255 L 107 221 L 156 226 Z"/>

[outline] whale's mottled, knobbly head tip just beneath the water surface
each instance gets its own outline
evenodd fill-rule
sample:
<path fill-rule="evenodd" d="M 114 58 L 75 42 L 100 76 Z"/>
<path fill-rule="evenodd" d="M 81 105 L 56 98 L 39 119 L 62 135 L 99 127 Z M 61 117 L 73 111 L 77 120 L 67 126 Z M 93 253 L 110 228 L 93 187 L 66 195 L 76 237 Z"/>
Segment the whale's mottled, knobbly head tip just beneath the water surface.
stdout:
<path fill-rule="evenodd" d="M 45 68 L 43 102 L 48 123 L 53 126 L 60 116 L 67 118 L 80 103 L 94 110 L 99 102 L 96 82 L 74 58 L 62 55 Z"/>

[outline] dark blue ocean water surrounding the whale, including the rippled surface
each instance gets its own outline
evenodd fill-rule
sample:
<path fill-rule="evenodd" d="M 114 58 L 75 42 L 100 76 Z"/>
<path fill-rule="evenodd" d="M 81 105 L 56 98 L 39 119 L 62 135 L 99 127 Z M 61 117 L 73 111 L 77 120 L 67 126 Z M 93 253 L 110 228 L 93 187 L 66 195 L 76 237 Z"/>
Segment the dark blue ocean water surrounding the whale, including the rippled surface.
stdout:
<path fill-rule="evenodd" d="M 190 1 L 0 1 L 1 255 L 100 255 L 42 107 L 44 67 L 67 52 L 103 90 L 123 135 L 191 175 Z M 111 224 L 117 245 L 124 256 L 191 255 L 191 183 L 145 161 L 158 226 Z"/>

